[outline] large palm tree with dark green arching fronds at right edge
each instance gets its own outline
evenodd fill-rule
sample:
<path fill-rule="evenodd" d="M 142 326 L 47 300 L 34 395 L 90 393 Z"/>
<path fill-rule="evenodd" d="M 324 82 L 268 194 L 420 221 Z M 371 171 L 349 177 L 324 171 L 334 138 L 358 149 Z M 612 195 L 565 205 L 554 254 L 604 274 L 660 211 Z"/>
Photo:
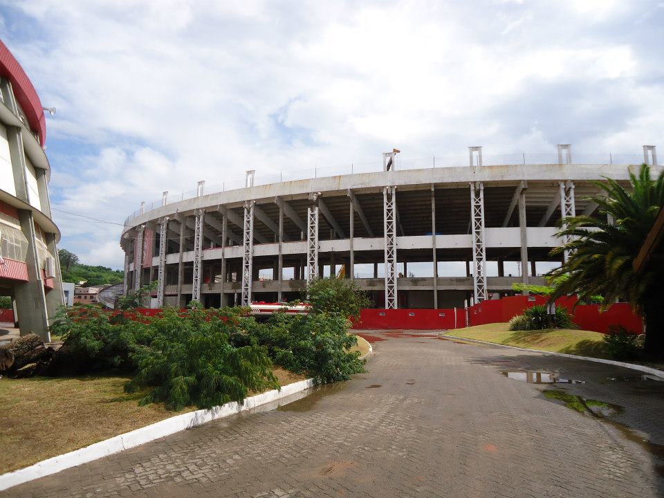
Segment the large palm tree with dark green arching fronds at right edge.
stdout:
<path fill-rule="evenodd" d="M 664 171 L 656 180 L 647 165 L 641 165 L 638 176 L 629 173 L 629 188 L 606 178 L 596 185 L 603 191 L 591 201 L 599 206 L 602 216 L 573 216 L 564 219 L 558 237 L 571 241 L 551 251 L 569 258 L 550 277 L 560 278 L 552 299 L 578 294 L 582 300 L 593 295 L 604 297 L 608 307 L 616 299 L 626 299 L 645 317 L 645 351 L 649 355 L 664 353 L 664 268 L 651 266 L 636 273 L 632 261 L 664 206 Z"/>

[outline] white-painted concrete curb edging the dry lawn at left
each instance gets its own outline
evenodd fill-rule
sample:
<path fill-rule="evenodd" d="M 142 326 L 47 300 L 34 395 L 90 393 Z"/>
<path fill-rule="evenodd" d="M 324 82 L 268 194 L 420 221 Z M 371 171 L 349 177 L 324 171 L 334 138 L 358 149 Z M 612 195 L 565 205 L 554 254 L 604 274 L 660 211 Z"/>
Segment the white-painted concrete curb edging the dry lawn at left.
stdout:
<path fill-rule="evenodd" d="M 208 423 L 217 418 L 227 417 L 280 400 L 311 387 L 313 387 L 313 379 L 300 380 L 299 382 L 288 384 L 280 390 L 273 389 L 272 391 L 266 391 L 246 398 L 241 405 L 233 401 L 232 403 L 226 403 L 225 405 L 211 409 L 200 409 L 146 425 L 140 429 L 114 436 L 111 439 L 94 443 L 80 450 L 74 450 L 73 452 L 42 460 L 34 465 L 30 465 L 30 467 L 1 474 L 0 491 L 12 488 L 12 486 L 17 486 L 21 483 L 39 479 L 40 477 L 55 474 L 61 470 L 81 465 L 82 463 L 107 457 L 113 453 L 129 450 L 129 448 L 134 448 L 138 445 L 149 443 L 149 441 L 169 436 L 169 434 L 196 427 L 196 425 Z"/>

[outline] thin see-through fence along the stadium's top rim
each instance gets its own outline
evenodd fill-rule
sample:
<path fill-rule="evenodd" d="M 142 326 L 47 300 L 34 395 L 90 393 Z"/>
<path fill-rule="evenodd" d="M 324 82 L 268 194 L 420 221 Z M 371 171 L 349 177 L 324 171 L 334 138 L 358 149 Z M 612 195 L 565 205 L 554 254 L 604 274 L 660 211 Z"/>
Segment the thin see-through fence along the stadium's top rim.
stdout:
<path fill-rule="evenodd" d="M 549 165 L 557 164 L 559 157 L 556 153 L 544 154 L 494 154 L 482 156 L 483 166 L 499 165 Z M 572 164 L 578 165 L 635 165 L 644 162 L 643 154 L 572 154 Z M 467 167 L 469 164 L 468 156 L 430 156 L 427 158 L 396 158 L 396 170 L 407 169 L 432 169 L 443 167 Z M 309 178 L 326 178 L 330 176 L 339 176 L 357 173 L 376 173 L 382 172 L 382 162 L 372 161 L 369 163 L 349 163 L 338 166 L 313 167 L 309 169 L 296 169 L 289 172 L 273 173 L 261 175 L 259 172 L 255 175 L 254 186 L 269 185 L 270 183 L 281 183 L 284 181 L 308 180 Z M 232 178 L 221 183 L 205 184 L 205 195 L 216 194 L 219 192 L 228 192 L 229 190 L 239 190 L 245 188 L 245 178 Z M 147 202 L 142 207 L 127 216 L 124 225 L 129 226 L 129 222 L 140 214 L 144 214 L 164 205 L 193 199 L 199 196 L 199 189 L 187 190 L 180 194 L 167 194 L 161 199 Z"/>

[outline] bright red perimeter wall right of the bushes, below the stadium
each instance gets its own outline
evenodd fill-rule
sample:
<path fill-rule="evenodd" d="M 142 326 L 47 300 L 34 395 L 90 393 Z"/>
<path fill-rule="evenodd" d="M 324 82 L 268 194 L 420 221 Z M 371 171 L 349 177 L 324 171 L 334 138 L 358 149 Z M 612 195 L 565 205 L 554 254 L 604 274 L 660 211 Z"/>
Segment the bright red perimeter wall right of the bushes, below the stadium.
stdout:
<path fill-rule="evenodd" d="M 634 333 L 641 333 L 641 317 L 631 311 L 629 304 L 616 303 L 600 313 L 597 304 L 580 304 L 574 308 L 575 297 L 561 297 L 557 306 L 567 308 L 573 315 L 573 322 L 582 330 L 607 333 L 610 326 L 622 325 Z M 490 299 L 468 308 L 468 324 L 483 325 L 508 322 L 520 315 L 526 308 L 535 304 L 546 304 L 546 297 L 512 296 Z M 457 329 L 465 326 L 465 310 L 457 308 Z M 454 329 L 454 309 L 363 309 L 360 320 L 353 322 L 354 329 L 413 329 L 434 330 Z"/>

